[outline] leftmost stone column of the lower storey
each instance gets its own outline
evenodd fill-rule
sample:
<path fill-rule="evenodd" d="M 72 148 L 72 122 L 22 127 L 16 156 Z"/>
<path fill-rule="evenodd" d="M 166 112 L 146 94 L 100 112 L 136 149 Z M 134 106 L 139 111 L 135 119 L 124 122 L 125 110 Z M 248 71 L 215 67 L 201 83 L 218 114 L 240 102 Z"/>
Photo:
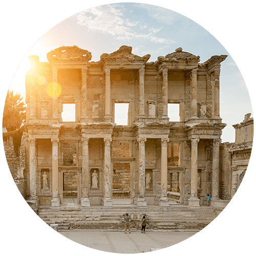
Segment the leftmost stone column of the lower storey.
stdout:
<path fill-rule="evenodd" d="M 36 193 L 36 139 L 29 139 L 29 182 L 30 182 L 30 200 L 37 200 Z"/>

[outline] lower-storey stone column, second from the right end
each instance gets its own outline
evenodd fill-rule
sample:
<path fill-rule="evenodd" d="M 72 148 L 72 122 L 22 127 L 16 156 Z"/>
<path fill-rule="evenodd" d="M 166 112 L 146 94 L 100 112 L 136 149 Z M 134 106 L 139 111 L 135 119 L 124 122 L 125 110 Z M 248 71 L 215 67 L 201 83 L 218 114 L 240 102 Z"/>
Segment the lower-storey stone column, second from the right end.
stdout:
<path fill-rule="evenodd" d="M 197 197 L 198 142 L 199 138 L 191 139 L 191 190 L 188 206 L 200 206 Z"/>

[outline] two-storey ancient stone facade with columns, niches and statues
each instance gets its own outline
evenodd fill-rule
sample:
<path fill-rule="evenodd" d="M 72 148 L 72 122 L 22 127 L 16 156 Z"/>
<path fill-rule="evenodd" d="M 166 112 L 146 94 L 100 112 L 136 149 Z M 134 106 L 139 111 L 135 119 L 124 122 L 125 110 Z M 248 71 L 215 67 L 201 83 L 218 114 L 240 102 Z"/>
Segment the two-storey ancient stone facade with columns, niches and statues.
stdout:
<path fill-rule="evenodd" d="M 30 56 L 26 75 L 26 173 L 33 204 L 111 206 L 129 197 L 138 206 L 189 206 L 220 199 L 220 63 L 226 55 L 184 52 L 148 62 L 122 46 L 97 62 L 76 46 Z M 115 104 L 127 103 L 127 125 Z M 168 117 L 179 104 L 180 120 Z M 65 121 L 74 106 L 73 121 Z M 199 197 L 198 197 L 199 196 Z"/>

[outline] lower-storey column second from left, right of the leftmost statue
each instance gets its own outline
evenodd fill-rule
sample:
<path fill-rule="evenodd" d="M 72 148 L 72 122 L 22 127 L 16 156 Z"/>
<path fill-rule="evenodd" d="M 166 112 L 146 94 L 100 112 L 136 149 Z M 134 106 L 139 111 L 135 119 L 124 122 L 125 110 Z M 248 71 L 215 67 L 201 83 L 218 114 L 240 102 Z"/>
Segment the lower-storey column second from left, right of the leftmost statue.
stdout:
<path fill-rule="evenodd" d="M 58 143 L 59 139 L 52 141 L 52 206 L 59 206 L 59 166 L 58 166 Z"/>

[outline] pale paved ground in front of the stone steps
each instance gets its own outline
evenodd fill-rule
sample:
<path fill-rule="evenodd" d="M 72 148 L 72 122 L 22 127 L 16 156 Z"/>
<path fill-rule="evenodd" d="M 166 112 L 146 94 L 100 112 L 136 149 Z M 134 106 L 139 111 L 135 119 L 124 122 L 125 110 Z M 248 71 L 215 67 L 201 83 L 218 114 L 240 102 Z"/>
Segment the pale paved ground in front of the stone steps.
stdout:
<path fill-rule="evenodd" d="M 191 231 L 60 231 L 62 236 L 83 246 L 114 253 L 142 253 L 151 248 L 167 248 L 196 234 Z"/>

